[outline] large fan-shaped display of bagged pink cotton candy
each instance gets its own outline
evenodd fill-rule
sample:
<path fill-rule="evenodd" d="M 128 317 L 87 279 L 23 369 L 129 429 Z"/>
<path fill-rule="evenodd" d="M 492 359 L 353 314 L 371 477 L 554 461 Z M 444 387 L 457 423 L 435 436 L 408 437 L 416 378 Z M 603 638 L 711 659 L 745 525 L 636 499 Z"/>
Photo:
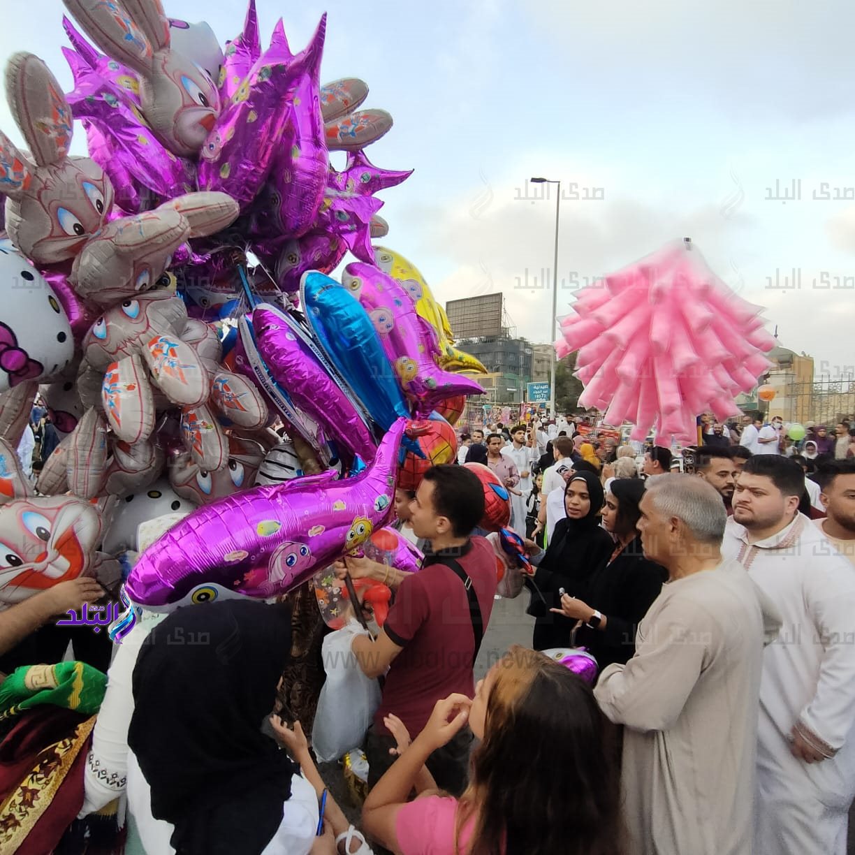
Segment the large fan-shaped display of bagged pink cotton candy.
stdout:
<path fill-rule="evenodd" d="M 581 407 L 606 410 L 609 424 L 634 422 L 633 439 L 654 424 L 657 444 L 694 440 L 695 416 L 738 412 L 769 367 L 775 345 L 761 306 L 737 296 L 688 241 L 671 244 L 576 295 L 561 320 L 558 358 L 574 351 L 585 384 Z"/>

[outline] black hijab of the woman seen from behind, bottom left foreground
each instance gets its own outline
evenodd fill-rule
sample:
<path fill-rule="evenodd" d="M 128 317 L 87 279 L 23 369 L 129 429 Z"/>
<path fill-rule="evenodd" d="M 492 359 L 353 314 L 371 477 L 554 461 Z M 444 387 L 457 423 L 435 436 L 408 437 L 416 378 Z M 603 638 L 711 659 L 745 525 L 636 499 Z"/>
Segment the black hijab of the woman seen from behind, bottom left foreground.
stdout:
<path fill-rule="evenodd" d="M 177 855 L 256 855 L 279 828 L 297 767 L 261 727 L 291 644 L 285 607 L 238 599 L 179 609 L 144 641 L 127 744 Z"/>

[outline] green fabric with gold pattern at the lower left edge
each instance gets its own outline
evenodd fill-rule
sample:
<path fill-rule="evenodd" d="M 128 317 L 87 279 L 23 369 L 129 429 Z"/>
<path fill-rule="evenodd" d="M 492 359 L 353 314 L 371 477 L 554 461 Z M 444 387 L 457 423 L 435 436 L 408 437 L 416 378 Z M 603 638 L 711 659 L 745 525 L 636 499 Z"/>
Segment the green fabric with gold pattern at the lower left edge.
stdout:
<path fill-rule="evenodd" d="M 0 686 L 0 721 L 51 704 L 92 716 L 107 690 L 107 676 L 82 662 L 22 665 Z"/>

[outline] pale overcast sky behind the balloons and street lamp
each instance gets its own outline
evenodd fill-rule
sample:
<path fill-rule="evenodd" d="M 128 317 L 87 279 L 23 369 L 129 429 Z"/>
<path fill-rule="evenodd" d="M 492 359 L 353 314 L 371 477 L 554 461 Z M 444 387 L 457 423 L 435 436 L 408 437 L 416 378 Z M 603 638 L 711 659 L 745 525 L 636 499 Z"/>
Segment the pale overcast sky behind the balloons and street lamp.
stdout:
<path fill-rule="evenodd" d="M 223 42 L 243 21 L 233 0 L 163 2 Z M 70 87 L 60 0 L 7 3 L 0 56 L 32 50 Z M 380 194 L 383 243 L 441 301 L 501 290 L 518 332 L 549 339 L 534 277 L 551 276 L 554 196 L 519 198 L 540 174 L 580 197 L 561 207 L 559 315 L 575 288 L 691 236 L 817 373 L 855 363 L 851 3 L 257 3 L 263 37 L 282 14 L 295 47 L 326 10 L 323 79 L 362 77 L 394 116 L 369 157 L 416 172 Z M 4 103 L 0 128 L 21 141 Z M 800 287 L 769 288 L 793 270 Z"/>

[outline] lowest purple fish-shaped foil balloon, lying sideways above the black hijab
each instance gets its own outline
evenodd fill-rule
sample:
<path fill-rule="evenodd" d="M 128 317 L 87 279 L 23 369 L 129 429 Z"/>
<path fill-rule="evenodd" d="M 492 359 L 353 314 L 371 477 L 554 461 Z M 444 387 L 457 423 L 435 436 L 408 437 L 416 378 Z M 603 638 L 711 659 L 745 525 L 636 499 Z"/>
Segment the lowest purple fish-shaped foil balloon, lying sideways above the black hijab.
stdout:
<path fill-rule="evenodd" d="M 242 594 L 287 593 L 363 545 L 392 515 L 404 419 L 361 475 L 332 470 L 259 486 L 186 516 L 139 557 L 125 590 L 155 611 Z"/>

